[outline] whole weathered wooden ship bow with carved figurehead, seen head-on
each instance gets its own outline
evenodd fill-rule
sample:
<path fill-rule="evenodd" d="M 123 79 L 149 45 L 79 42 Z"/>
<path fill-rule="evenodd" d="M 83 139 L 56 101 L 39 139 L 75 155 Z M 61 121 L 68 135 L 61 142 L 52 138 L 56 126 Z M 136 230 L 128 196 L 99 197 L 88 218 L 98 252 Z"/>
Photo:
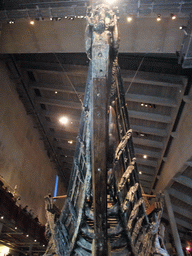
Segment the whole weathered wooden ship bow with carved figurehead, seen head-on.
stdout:
<path fill-rule="evenodd" d="M 142 196 L 118 66 L 117 11 L 88 8 L 90 59 L 84 106 L 65 205 L 46 197 L 45 255 L 168 255 L 160 224 L 162 200 Z"/>

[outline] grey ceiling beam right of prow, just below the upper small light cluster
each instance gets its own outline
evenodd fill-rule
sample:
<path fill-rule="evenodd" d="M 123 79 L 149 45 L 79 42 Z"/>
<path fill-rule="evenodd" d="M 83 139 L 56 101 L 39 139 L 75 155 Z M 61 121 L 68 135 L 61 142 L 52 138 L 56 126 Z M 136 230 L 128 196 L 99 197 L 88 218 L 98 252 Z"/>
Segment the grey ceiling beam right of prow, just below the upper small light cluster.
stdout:
<path fill-rule="evenodd" d="M 148 112 L 141 112 L 136 110 L 128 110 L 128 114 L 130 118 L 148 120 L 153 122 L 160 122 L 160 123 L 171 123 L 172 119 L 170 116 L 148 113 Z"/>

